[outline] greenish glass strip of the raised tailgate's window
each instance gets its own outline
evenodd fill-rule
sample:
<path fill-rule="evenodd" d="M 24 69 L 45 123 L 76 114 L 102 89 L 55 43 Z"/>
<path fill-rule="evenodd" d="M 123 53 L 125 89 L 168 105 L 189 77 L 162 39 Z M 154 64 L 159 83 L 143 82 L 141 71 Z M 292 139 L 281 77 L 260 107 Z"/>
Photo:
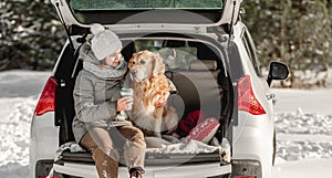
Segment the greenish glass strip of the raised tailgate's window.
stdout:
<path fill-rule="evenodd" d="M 71 0 L 73 10 L 222 9 L 222 0 Z"/>

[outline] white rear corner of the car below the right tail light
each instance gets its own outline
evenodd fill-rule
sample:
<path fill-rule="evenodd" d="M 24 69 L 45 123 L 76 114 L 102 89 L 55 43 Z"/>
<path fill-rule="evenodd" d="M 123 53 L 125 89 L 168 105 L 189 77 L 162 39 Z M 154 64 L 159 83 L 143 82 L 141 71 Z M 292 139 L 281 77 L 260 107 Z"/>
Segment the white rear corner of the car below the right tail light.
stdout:
<path fill-rule="evenodd" d="M 268 115 L 239 114 L 232 137 L 232 169 L 239 174 L 237 176 L 271 177 L 273 132 L 273 123 Z"/>

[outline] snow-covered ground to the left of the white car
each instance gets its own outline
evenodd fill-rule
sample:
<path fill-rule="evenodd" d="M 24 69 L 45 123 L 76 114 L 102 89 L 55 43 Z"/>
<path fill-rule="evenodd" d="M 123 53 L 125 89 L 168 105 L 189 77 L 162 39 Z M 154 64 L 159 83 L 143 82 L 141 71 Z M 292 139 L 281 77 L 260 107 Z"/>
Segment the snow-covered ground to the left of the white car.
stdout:
<path fill-rule="evenodd" d="M 27 178 L 29 136 L 38 94 L 50 72 L 0 73 L 0 177 Z"/>

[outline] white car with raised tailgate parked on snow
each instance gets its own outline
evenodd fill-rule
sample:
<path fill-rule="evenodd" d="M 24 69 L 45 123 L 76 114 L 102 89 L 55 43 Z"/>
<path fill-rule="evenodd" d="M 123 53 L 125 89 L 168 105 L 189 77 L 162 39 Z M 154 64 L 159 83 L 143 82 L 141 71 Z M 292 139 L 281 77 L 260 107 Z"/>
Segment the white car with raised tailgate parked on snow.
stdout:
<path fill-rule="evenodd" d="M 52 3 L 69 39 L 33 115 L 31 178 L 97 177 L 91 154 L 79 149 L 72 133 L 72 92 L 82 70 L 77 49 L 91 35 L 92 23 L 101 23 L 120 36 L 126 60 L 141 50 L 163 56 L 165 74 L 177 88 L 168 104 L 177 109 L 179 118 L 200 111 L 219 122 L 214 133 L 207 133 L 211 137 L 205 144 L 194 142 L 197 145 L 193 148 L 183 143 L 189 151 L 147 148 L 144 178 L 271 177 L 276 137 L 269 86 L 272 80 L 287 78 L 289 71 L 287 65 L 271 62 L 268 78 L 262 77 L 250 33 L 239 20 L 241 0 Z M 226 155 L 229 164 L 222 158 L 226 140 L 230 143 Z M 200 151 L 200 145 L 210 150 Z M 120 177 L 128 177 L 124 165 Z"/>

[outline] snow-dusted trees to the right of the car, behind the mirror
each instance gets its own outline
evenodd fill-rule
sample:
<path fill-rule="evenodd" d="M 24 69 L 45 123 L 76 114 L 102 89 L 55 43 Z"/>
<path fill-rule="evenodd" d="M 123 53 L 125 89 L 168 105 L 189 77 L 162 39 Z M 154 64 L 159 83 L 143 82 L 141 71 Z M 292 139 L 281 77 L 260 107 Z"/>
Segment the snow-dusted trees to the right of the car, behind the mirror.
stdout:
<path fill-rule="evenodd" d="M 331 1 L 248 0 L 243 21 L 252 31 L 260 59 L 283 61 L 291 70 L 289 85 L 325 83 L 332 61 Z M 314 80 L 319 78 L 319 80 Z"/>

